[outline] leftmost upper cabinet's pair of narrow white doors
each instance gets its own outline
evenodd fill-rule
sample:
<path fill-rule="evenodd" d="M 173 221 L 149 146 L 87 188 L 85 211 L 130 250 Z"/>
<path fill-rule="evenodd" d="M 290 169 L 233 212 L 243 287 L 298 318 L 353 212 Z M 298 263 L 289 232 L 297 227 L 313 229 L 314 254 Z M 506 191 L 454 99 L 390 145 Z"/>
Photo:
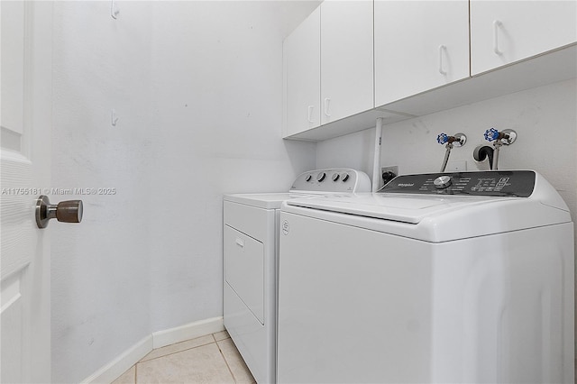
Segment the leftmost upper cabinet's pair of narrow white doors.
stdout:
<path fill-rule="evenodd" d="M 326 0 L 283 44 L 284 137 L 374 107 L 372 0 Z"/>

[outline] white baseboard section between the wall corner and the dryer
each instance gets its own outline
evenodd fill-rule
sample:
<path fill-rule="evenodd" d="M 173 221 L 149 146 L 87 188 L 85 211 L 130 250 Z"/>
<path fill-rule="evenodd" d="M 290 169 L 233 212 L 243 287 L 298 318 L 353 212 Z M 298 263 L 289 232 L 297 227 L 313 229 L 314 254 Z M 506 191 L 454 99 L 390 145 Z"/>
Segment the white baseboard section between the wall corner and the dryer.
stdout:
<path fill-rule="evenodd" d="M 155 332 L 152 334 L 152 344 L 153 348 L 160 348 L 220 331 L 224 331 L 223 316 L 213 317 L 186 325 L 180 325 L 165 331 Z"/>

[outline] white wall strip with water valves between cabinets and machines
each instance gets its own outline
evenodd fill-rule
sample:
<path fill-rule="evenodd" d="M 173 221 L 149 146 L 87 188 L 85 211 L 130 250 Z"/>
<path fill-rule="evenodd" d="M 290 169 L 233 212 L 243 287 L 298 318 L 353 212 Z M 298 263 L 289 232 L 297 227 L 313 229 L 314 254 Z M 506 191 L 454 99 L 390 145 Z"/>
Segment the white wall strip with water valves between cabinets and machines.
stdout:
<path fill-rule="evenodd" d="M 450 161 L 466 160 L 467 169 L 489 169 L 472 151 L 490 144 L 483 133 L 495 127 L 514 129 L 517 141 L 502 147 L 499 169 L 535 169 L 558 191 L 577 220 L 577 89 L 575 79 L 496 97 L 383 127 L 381 165 L 398 165 L 400 174 L 438 172 L 444 159 L 439 133 L 465 133 L 468 142 L 454 148 Z M 372 173 L 374 128 L 316 147 L 319 168 L 339 167 Z M 577 232 L 577 228 L 576 228 Z M 577 235 L 575 236 L 577 239 Z M 577 333 L 576 333 L 577 334 Z"/>

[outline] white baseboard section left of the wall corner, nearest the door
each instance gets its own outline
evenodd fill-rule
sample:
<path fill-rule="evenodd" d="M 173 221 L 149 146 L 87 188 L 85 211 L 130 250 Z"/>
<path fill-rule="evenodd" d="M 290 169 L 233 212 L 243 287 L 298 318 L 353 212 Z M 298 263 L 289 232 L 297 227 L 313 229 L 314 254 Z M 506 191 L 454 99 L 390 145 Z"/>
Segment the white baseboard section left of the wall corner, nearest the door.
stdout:
<path fill-rule="evenodd" d="M 96 370 L 87 379 L 82 380 L 82 383 L 111 383 L 151 351 L 152 335 L 149 334 L 100 370 Z"/>

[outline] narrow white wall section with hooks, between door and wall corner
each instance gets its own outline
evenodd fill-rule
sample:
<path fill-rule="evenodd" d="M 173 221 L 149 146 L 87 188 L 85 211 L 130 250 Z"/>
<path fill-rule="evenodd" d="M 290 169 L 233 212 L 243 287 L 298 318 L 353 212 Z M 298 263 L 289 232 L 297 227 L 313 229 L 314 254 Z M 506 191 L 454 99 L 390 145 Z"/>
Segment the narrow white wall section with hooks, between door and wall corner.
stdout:
<path fill-rule="evenodd" d="M 79 382 L 150 334 L 150 5 L 55 2 L 52 186 L 82 198 L 82 224 L 50 223 L 52 381 Z M 111 109 L 119 114 L 111 126 Z"/>

